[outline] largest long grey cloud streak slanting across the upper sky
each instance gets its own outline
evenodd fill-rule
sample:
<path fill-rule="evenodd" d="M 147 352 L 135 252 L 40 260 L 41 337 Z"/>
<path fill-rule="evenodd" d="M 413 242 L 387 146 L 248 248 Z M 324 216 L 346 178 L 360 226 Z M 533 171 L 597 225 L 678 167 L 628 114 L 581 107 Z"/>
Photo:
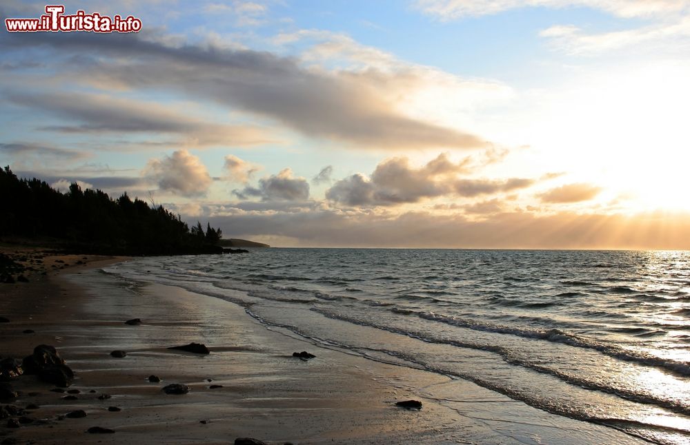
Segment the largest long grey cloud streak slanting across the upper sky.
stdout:
<path fill-rule="evenodd" d="M 45 33 L 22 35 L 21 39 L 3 34 L 0 47 L 12 52 L 47 48 L 56 56 L 79 53 L 82 56 L 61 65 L 66 80 L 107 85 L 109 89 L 184 92 L 195 100 L 272 118 L 308 136 L 332 138 L 357 147 L 486 145 L 474 134 L 402 112 L 395 98 L 420 87 L 421 79 L 415 70 L 328 71 L 268 52 L 221 48 L 210 43 L 175 44 L 151 34 L 146 37 L 146 33 L 39 34 Z M 86 117 L 79 112 L 79 118 Z M 125 124 L 137 128 L 135 122 Z"/>

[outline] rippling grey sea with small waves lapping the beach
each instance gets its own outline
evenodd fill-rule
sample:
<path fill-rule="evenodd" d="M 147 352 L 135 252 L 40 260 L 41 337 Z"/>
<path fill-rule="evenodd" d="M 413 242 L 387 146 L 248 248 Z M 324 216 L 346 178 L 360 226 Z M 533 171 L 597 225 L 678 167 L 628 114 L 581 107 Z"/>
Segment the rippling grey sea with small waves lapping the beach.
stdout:
<path fill-rule="evenodd" d="M 272 248 L 101 273 L 235 302 L 311 342 L 555 415 L 690 443 L 690 251 Z"/>

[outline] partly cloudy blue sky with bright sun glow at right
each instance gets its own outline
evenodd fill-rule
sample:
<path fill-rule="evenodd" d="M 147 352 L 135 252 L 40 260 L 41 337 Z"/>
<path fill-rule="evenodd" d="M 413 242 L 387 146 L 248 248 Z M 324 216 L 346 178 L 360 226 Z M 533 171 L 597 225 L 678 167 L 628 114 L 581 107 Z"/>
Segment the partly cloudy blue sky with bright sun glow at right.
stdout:
<path fill-rule="evenodd" d="M 0 32 L 18 176 L 279 247 L 690 249 L 690 0 L 64 6 L 142 29 Z"/>

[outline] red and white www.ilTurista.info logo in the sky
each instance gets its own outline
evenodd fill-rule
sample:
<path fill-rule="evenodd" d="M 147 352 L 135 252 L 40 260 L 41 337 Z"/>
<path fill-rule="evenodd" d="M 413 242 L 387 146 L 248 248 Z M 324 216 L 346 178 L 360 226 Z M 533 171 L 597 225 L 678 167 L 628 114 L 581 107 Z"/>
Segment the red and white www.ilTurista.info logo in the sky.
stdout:
<path fill-rule="evenodd" d="M 63 5 L 46 5 L 46 14 L 39 19 L 5 19 L 9 32 L 139 32 L 141 20 L 137 17 L 120 15 L 108 17 L 98 12 L 64 15 Z"/>

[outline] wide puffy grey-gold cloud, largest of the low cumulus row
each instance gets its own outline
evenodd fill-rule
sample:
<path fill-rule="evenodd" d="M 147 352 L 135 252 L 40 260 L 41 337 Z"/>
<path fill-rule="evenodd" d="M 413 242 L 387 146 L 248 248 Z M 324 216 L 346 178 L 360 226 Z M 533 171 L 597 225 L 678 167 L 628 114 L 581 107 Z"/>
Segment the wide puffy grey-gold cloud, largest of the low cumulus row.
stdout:
<path fill-rule="evenodd" d="M 493 162 L 491 156 L 486 159 L 489 161 L 484 163 Z M 473 158 L 466 157 L 453 163 L 444 153 L 420 168 L 411 167 L 408 158 L 390 158 L 377 165 L 371 178 L 353 174 L 337 181 L 326 191 L 326 199 L 348 206 L 389 206 L 440 196 L 474 197 L 510 192 L 535 182 L 524 178 L 458 178 L 459 174 L 466 174 L 474 168 Z"/>

